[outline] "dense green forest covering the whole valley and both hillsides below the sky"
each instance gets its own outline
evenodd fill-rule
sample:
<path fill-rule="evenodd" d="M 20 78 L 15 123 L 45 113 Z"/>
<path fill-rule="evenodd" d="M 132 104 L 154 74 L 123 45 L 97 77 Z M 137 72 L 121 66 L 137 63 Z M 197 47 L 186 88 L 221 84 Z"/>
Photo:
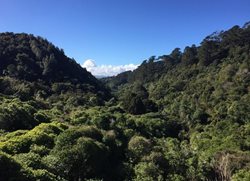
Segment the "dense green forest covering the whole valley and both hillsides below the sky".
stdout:
<path fill-rule="evenodd" d="M 0 180 L 249 181 L 249 70 L 249 26 L 102 83 L 40 37 L 0 34 Z"/>

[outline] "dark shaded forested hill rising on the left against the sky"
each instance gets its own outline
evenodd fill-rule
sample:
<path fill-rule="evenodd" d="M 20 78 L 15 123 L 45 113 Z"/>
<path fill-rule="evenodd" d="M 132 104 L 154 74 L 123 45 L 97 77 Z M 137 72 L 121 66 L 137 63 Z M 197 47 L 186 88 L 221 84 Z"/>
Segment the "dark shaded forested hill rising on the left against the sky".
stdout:
<path fill-rule="evenodd" d="M 29 34 L 0 34 L 0 75 L 49 82 L 95 83 L 97 80 L 62 49 Z"/>

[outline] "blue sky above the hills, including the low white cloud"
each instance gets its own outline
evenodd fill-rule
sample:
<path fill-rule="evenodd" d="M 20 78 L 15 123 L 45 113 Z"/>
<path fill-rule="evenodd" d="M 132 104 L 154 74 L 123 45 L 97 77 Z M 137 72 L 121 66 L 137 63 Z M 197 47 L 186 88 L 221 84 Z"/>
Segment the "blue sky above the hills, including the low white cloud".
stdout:
<path fill-rule="evenodd" d="M 42 36 L 95 75 L 250 21 L 250 0 L 0 0 L 0 32 Z"/>

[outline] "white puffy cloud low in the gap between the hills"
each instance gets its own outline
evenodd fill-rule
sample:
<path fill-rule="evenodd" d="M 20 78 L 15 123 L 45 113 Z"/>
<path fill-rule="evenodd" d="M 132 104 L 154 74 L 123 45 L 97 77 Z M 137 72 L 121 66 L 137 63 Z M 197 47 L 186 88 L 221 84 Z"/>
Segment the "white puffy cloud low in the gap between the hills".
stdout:
<path fill-rule="evenodd" d="M 135 64 L 127 64 L 127 65 L 101 65 L 97 66 L 94 60 L 88 59 L 83 64 L 82 67 L 86 68 L 89 72 L 91 72 L 95 76 L 113 76 L 117 75 L 121 72 L 134 70 L 138 67 Z"/>

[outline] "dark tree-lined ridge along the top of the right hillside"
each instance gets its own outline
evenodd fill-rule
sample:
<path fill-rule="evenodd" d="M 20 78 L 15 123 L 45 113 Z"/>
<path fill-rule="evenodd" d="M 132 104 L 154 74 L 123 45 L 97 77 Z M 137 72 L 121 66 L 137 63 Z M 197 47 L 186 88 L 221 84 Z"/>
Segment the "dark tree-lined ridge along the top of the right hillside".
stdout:
<path fill-rule="evenodd" d="M 219 67 L 223 63 L 230 64 L 230 60 L 241 54 L 247 54 L 250 42 L 250 26 L 234 26 L 227 31 L 214 32 L 207 36 L 200 46 L 187 46 L 183 52 L 175 48 L 169 55 L 152 56 L 144 60 L 134 71 L 123 72 L 117 76 L 103 78 L 102 81 L 113 90 L 121 85 L 139 82 L 148 85 L 159 81 L 166 75 L 178 77 L 179 70 L 190 69 L 196 66 L 200 69 L 206 67 Z M 234 61 L 241 61 L 235 59 Z M 246 61 L 247 60 L 246 58 Z M 192 73 L 187 76 L 195 76 Z M 169 75 L 170 76 L 170 75 Z M 193 77 L 194 78 L 194 77 Z"/>

